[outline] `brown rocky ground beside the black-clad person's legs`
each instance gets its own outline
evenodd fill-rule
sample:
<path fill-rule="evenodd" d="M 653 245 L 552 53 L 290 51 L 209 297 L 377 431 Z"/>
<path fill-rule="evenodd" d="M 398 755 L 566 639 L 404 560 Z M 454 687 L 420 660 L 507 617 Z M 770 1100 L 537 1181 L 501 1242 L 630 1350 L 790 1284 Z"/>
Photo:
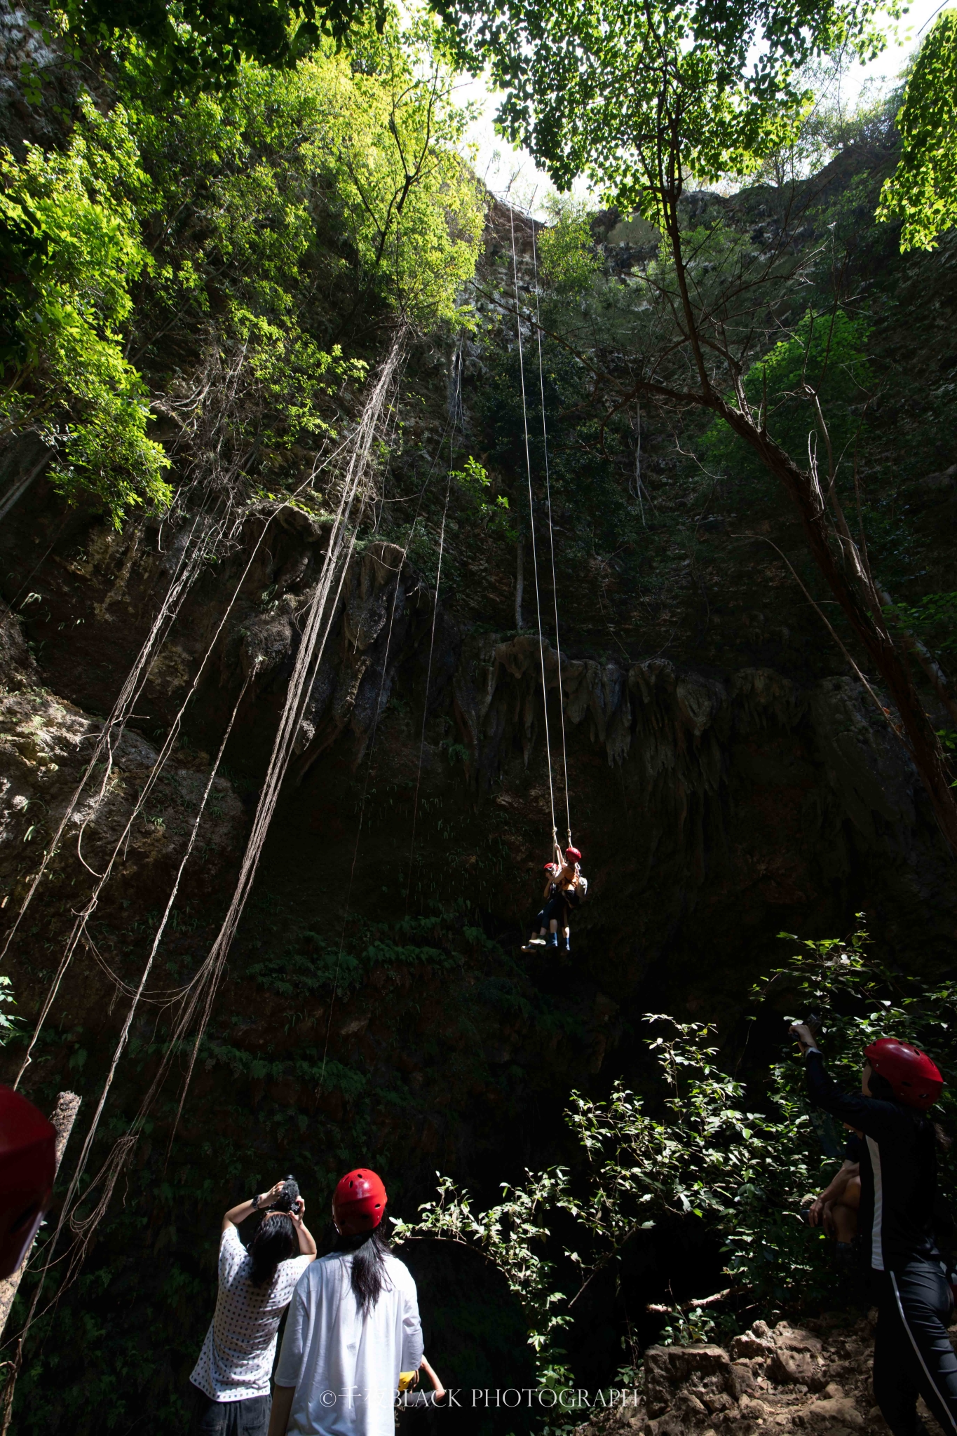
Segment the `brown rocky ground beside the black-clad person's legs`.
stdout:
<path fill-rule="evenodd" d="M 805 1327 L 756 1321 L 727 1347 L 649 1347 L 637 1404 L 593 1417 L 575 1436 L 878 1436 L 888 1427 L 871 1386 L 875 1323 L 874 1310 L 858 1321 L 839 1313 Z M 920 1413 L 937 1432 L 923 1402 Z"/>

